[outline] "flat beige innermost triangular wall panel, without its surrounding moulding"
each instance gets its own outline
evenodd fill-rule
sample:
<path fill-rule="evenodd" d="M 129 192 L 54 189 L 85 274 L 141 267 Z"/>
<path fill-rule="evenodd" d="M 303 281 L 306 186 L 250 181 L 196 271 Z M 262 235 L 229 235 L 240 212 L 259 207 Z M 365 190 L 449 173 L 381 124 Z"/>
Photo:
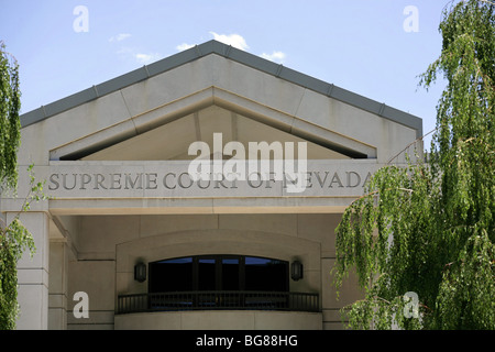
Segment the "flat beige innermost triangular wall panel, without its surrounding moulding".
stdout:
<path fill-rule="evenodd" d="M 187 114 L 180 119 L 157 127 L 145 133 L 113 144 L 98 152 L 84 156 L 85 161 L 178 161 L 193 160 L 196 154 L 189 155 L 189 146 L 194 142 L 208 144 L 213 158 L 216 148 L 213 138 L 217 136 L 217 145 L 223 146 L 232 141 L 240 142 L 245 148 L 243 155 L 234 155 L 238 158 L 258 157 L 251 155 L 250 142 L 280 143 L 307 142 L 308 158 L 311 160 L 340 160 L 349 156 L 318 145 L 294 134 L 280 131 L 271 125 L 246 118 L 228 109 L 210 106 Z M 221 139 L 219 139 L 221 136 Z M 210 155 L 208 155 L 210 156 Z M 216 155 L 220 158 L 229 158 L 229 155 Z"/>

